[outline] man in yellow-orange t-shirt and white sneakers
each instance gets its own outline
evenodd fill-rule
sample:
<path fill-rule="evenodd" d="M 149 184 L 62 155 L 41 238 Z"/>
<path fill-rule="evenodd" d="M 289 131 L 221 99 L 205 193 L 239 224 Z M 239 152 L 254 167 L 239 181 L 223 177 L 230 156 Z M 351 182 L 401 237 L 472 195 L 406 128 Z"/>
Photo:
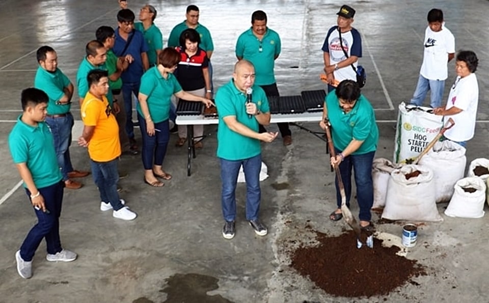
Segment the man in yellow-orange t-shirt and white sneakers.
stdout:
<path fill-rule="evenodd" d="M 119 127 L 112 107 L 105 95 L 108 93 L 108 73 L 92 70 L 88 73 L 89 92 L 80 113 L 84 124 L 78 144 L 88 147 L 90 165 L 95 184 L 100 193 L 100 210 L 113 210 L 112 216 L 122 220 L 136 218 L 117 192 L 117 162 L 121 155 Z"/>

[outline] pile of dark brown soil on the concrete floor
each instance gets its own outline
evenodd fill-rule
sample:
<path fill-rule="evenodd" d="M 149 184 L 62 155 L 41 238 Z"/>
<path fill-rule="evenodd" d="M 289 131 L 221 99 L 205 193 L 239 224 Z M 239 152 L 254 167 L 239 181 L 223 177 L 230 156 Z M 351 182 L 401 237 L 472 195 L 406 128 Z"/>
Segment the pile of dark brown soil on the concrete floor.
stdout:
<path fill-rule="evenodd" d="M 386 248 L 374 238 L 373 249 L 357 249 L 354 231 L 329 237 L 316 231 L 319 245 L 301 246 L 292 252 L 291 267 L 309 277 L 325 292 L 342 297 L 386 295 L 413 277 L 426 275 L 416 260 L 396 255 L 398 247 Z"/>

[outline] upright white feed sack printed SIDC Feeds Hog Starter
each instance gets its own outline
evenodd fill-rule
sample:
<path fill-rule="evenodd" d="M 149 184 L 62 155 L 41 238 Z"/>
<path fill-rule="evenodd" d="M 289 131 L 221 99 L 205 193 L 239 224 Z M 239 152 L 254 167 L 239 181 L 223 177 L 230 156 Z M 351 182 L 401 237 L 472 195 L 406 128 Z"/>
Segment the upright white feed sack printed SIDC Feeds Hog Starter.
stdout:
<path fill-rule="evenodd" d="M 394 162 L 416 158 L 443 128 L 443 116 L 435 115 L 430 107 L 399 104 Z"/>

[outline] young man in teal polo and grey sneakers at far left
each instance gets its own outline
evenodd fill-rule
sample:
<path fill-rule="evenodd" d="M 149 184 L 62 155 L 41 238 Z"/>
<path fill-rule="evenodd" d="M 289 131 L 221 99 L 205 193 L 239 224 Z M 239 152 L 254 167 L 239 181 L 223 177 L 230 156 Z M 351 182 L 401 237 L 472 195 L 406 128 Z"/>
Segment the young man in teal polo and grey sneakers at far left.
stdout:
<path fill-rule="evenodd" d="M 75 253 L 61 247 L 59 219 L 64 184 L 52 134 L 44 122 L 48 100 L 40 89 L 22 90 L 22 114 L 9 135 L 12 159 L 38 219 L 15 253 L 17 272 L 24 279 L 32 277 L 32 259 L 43 238 L 48 261 L 76 259 Z"/>

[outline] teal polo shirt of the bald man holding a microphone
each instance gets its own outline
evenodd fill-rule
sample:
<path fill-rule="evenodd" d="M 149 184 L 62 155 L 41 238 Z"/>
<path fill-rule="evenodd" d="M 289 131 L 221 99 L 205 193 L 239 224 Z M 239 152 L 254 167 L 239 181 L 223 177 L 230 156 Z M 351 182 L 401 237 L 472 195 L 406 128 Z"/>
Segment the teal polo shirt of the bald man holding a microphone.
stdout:
<path fill-rule="evenodd" d="M 253 103 L 261 112 L 269 112 L 270 108 L 264 90 L 258 85 L 253 85 L 252 88 Z M 233 80 L 220 87 L 215 95 L 215 106 L 219 112 L 218 150 L 216 153 L 219 158 L 229 161 L 244 160 L 261 153 L 260 140 L 236 133 L 224 123 L 224 117 L 235 116 L 239 123 L 258 132 L 258 121 L 254 116 L 250 118 L 246 113 L 246 100 L 246 94 L 241 93 L 236 88 Z"/>

